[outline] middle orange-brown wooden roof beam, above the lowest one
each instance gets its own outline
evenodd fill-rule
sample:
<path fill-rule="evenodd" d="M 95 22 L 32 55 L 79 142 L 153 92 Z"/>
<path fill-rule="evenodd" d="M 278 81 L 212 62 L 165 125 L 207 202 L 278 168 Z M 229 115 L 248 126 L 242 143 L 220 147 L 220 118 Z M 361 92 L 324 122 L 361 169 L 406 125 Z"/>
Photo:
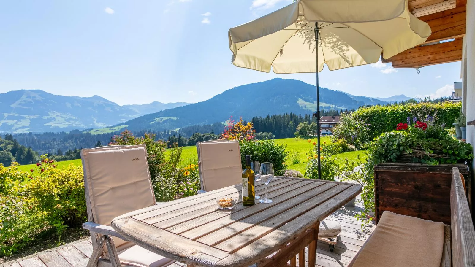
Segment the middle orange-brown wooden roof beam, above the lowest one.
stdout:
<path fill-rule="evenodd" d="M 444 16 L 445 15 L 445 16 Z M 432 34 L 424 44 L 465 36 L 466 7 L 455 8 L 420 17 L 430 26 Z"/>

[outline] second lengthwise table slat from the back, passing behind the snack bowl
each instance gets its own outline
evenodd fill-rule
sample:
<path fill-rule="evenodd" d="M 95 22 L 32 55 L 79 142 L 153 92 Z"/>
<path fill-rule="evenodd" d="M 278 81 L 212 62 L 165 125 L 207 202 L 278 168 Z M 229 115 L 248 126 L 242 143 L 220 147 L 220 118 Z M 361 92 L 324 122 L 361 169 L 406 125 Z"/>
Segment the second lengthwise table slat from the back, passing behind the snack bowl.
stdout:
<path fill-rule="evenodd" d="M 279 181 L 276 181 L 277 184 L 282 184 L 282 183 L 289 183 L 289 181 L 285 181 L 285 179 L 281 179 Z M 265 185 L 264 184 L 261 184 L 261 185 L 258 185 L 256 186 L 256 192 L 258 193 L 264 193 L 265 192 Z M 241 194 L 242 194 L 242 191 L 239 191 L 239 192 L 233 192 L 233 193 L 230 193 L 230 194 L 227 194 L 227 195 L 221 195 L 223 197 L 236 197 L 238 198 L 238 202 L 242 203 L 242 199 L 241 199 Z M 219 196 L 219 197 L 221 197 Z M 174 210 L 173 212 L 168 212 L 168 213 L 165 213 L 165 214 L 161 214 L 161 215 L 157 215 L 157 216 L 154 216 L 154 217 L 151 217 L 151 218 L 148 218 L 148 219 L 142 219 L 141 221 L 142 222 L 145 222 L 145 223 L 148 223 L 148 224 L 156 224 L 158 222 L 161 222 L 161 221 L 164 221 L 164 220 L 167 220 L 167 219 L 176 219 L 178 216 L 180 215 L 183 215 L 183 214 L 186 214 L 185 218 L 187 218 L 186 220 L 190 220 L 190 219 L 193 219 L 193 218 L 196 218 L 196 217 L 190 217 L 190 216 L 193 216 L 193 214 L 190 214 L 191 212 L 195 213 L 196 215 L 201 215 L 201 209 L 202 208 L 207 208 L 209 206 L 212 206 L 212 207 L 215 207 L 216 208 L 216 200 L 215 199 L 210 199 L 208 201 L 204 201 L 204 202 L 201 202 L 201 203 L 198 203 L 198 204 L 195 204 L 195 205 L 191 205 L 191 206 L 188 206 L 188 207 L 184 207 L 184 208 L 181 208 L 180 210 Z M 215 209 L 212 209 L 210 210 L 209 212 L 213 211 Z M 164 223 L 163 225 L 167 225 L 166 223 Z M 166 228 L 166 227 L 160 227 L 158 225 L 156 225 L 157 227 L 159 228 Z"/>

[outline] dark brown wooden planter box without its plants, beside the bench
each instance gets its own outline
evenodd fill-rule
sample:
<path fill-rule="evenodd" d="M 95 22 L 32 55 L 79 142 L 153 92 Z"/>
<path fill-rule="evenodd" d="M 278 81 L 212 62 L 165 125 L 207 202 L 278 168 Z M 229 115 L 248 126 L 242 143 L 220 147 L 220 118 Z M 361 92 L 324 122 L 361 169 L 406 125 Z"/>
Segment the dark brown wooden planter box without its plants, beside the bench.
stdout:
<path fill-rule="evenodd" d="M 472 209 L 472 183 L 465 164 L 380 163 L 374 166 L 375 220 L 384 210 L 450 224 L 452 168 L 465 178 Z"/>

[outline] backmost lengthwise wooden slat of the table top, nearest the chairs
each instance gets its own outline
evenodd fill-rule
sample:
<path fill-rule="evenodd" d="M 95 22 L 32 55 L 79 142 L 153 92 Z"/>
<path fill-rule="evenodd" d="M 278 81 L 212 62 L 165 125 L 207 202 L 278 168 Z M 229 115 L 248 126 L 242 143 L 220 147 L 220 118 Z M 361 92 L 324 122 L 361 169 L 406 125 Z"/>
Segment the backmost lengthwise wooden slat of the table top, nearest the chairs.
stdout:
<path fill-rule="evenodd" d="M 262 181 L 257 181 L 258 185 L 261 183 Z M 152 218 L 154 216 L 161 215 L 173 210 L 179 210 L 181 208 L 190 207 L 197 203 L 201 203 L 210 199 L 215 199 L 227 194 L 238 193 L 241 191 L 242 191 L 242 184 L 237 184 L 234 186 L 225 187 L 225 190 L 214 190 L 214 191 L 206 192 L 203 194 L 199 194 L 198 196 L 201 196 L 201 197 L 193 198 L 192 200 L 189 200 L 188 199 L 189 197 L 186 197 L 180 200 L 170 201 L 167 203 L 174 202 L 173 205 L 159 206 L 159 209 L 154 209 L 149 212 L 144 212 L 144 213 L 137 214 L 135 216 L 128 216 L 128 217 L 132 217 L 133 219 L 136 219 L 136 220 L 148 219 L 148 218 Z"/>

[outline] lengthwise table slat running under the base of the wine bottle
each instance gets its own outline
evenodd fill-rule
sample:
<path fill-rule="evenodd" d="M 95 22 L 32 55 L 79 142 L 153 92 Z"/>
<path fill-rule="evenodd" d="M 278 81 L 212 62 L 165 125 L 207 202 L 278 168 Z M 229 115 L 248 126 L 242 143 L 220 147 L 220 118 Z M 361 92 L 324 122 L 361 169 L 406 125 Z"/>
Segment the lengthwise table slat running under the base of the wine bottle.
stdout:
<path fill-rule="evenodd" d="M 288 185 L 288 186 L 285 186 L 284 188 L 280 188 L 276 191 L 273 191 L 276 187 L 269 187 L 268 191 L 267 191 L 267 197 L 269 199 L 273 199 L 279 195 L 282 195 L 282 194 L 292 194 L 292 195 L 295 195 L 295 189 L 299 188 L 299 187 L 302 187 L 305 185 L 305 183 L 308 184 L 309 181 L 298 181 L 298 182 L 295 182 L 294 184 L 291 184 L 291 185 Z M 262 196 L 264 197 L 264 196 Z M 259 204 L 259 200 L 256 200 L 256 204 L 257 205 L 260 205 Z M 207 224 L 207 223 L 210 223 L 212 221 L 215 221 L 219 218 L 222 218 L 222 217 L 225 217 L 225 216 L 228 216 L 230 213 L 236 213 L 238 212 L 239 210 L 245 210 L 247 209 L 248 207 L 245 207 L 243 206 L 242 204 L 241 205 L 237 205 L 236 207 L 234 207 L 234 209 L 232 210 L 228 210 L 228 211 L 217 211 L 217 212 L 213 212 L 213 213 L 209 213 L 209 214 L 206 214 L 206 215 L 203 215 L 199 218 L 196 218 L 196 219 L 191 219 L 189 221 L 186 221 L 186 222 L 183 222 L 183 223 L 180 223 L 178 225 L 175 225 L 173 227 L 170 227 L 170 228 L 167 228 L 168 231 L 171 231 L 172 233 L 175 233 L 175 234 L 181 234 L 185 231 L 188 231 L 190 229 L 193 229 L 193 228 L 196 228 L 198 226 L 201 226 L 201 225 L 204 225 L 204 224 Z"/>

